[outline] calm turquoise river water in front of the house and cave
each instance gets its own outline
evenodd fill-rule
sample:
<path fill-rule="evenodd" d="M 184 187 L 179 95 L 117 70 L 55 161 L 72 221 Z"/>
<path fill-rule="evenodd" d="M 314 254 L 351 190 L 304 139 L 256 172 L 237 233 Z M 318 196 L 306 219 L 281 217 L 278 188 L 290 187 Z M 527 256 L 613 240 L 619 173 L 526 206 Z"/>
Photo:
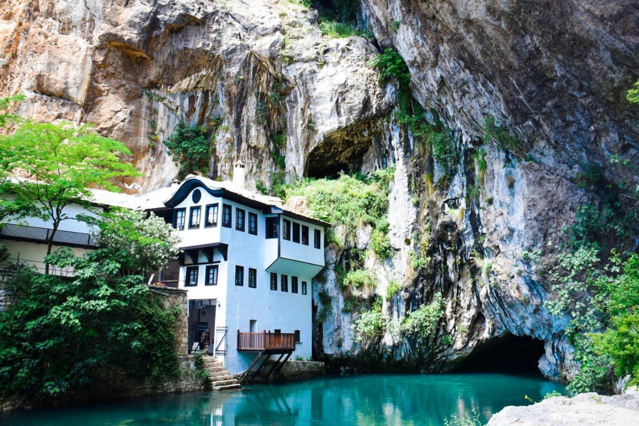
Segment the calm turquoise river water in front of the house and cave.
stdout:
<path fill-rule="evenodd" d="M 2 425 L 442 425 L 566 393 L 538 375 L 367 374 L 0 415 Z"/>

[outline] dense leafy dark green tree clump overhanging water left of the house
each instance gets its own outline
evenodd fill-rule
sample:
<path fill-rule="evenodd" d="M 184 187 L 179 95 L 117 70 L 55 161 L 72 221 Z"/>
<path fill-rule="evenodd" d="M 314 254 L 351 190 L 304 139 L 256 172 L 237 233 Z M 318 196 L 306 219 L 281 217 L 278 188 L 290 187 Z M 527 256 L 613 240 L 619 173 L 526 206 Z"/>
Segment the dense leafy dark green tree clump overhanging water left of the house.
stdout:
<path fill-rule="evenodd" d="M 75 276 L 20 269 L 6 284 L 13 299 L 0 312 L 0 395 L 79 393 L 104 368 L 140 379 L 178 372 L 174 327 L 179 309 L 167 309 L 141 275 L 125 273 L 132 259 L 139 271 L 156 267 L 174 247 L 164 244 L 163 228 L 149 231 L 158 228 L 153 217 L 118 215 L 109 215 L 101 227 L 107 246 L 82 257 L 61 248 L 47 258 L 73 268 Z M 124 219 L 116 224 L 118 217 Z M 132 221 L 141 226 L 117 240 L 107 238 Z M 173 231 L 169 234 L 173 241 Z"/>

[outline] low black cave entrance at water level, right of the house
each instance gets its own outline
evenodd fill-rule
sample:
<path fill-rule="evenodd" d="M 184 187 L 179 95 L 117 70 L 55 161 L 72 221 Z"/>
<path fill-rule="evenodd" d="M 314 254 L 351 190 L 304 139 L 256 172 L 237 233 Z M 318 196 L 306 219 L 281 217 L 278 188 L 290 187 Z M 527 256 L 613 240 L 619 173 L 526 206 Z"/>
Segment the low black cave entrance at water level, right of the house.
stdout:
<path fill-rule="evenodd" d="M 538 363 L 543 354 L 543 340 L 509 333 L 477 347 L 457 371 L 541 375 Z"/>

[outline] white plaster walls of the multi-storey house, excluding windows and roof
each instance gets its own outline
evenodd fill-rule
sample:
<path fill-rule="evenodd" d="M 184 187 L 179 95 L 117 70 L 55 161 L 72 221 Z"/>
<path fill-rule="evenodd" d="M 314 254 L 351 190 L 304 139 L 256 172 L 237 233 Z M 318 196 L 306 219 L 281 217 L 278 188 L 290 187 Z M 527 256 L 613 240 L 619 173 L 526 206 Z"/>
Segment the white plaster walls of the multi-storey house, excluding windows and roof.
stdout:
<path fill-rule="evenodd" d="M 194 189 L 195 190 L 195 189 Z M 187 208 L 187 229 L 180 231 L 180 246 L 195 246 L 199 244 L 210 244 L 213 242 L 225 242 L 229 244 L 228 261 L 224 261 L 217 249 L 214 251 L 213 260 L 219 260 L 219 276 L 217 286 L 205 286 L 206 264 L 199 265 L 197 287 L 184 287 L 186 267 L 191 263 L 189 256 L 185 257 L 185 266 L 180 270 L 180 287 L 185 288 L 189 299 L 217 299 L 218 306 L 215 313 L 215 327 L 227 326 L 227 356 L 224 364 L 229 372 L 235 374 L 242 372 L 249 367 L 250 362 L 256 356 L 254 352 L 237 351 L 237 332 L 249 331 L 249 321 L 257 321 L 257 330 L 281 329 L 282 333 L 293 333 L 300 330 L 301 343 L 296 345 L 296 350 L 292 357 L 301 356 L 304 359 L 312 356 L 312 299 L 311 299 L 311 278 L 310 276 L 298 276 L 298 293 L 291 292 L 291 275 L 289 275 L 288 292 L 282 292 L 280 276 L 277 277 L 277 291 L 270 290 L 270 274 L 266 272 L 266 267 L 277 257 L 278 239 L 266 239 L 265 214 L 260 210 L 251 209 L 245 205 L 240 205 L 235 201 L 216 198 L 201 189 L 202 198 L 196 204 L 204 206 L 209 203 L 219 203 L 218 226 L 215 228 L 204 228 L 204 220 L 201 220 L 199 229 L 189 230 L 189 211 L 194 205 L 192 193 L 189 194 L 176 208 Z M 231 228 L 222 226 L 222 205 L 227 204 L 232 207 Z M 236 207 L 245 210 L 244 231 L 235 229 Z M 248 232 L 249 212 L 258 215 L 258 235 Z M 269 215 L 272 216 L 272 215 Z M 298 223 L 302 223 L 298 221 Z M 309 225 L 309 246 L 301 243 L 289 243 L 289 256 L 303 260 L 304 262 L 324 264 L 323 249 L 314 248 L 313 230 L 317 228 Z M 323 230 L 321 230 L 323 240 Z M 323 244 L 322 244 L 323 247 Z M 203 255 L 199 255 L 199 262 L 206 262 Z M 243 286 L 235 285 L 235 266 L 244 267 Z M 249 268 L 257 271 L 257 288 L 249 287 Z M 302 281 L 307 282 L 307 294 L 302 294 Z M 217 342 L 215 342 L 217 344 Z"/>

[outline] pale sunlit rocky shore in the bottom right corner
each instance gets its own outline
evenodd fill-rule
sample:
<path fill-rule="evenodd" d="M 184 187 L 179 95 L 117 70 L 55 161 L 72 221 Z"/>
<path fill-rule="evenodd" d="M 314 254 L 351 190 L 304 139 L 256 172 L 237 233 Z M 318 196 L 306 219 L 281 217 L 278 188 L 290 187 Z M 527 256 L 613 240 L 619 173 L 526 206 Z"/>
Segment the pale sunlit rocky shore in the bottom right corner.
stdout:
<path fill-rule="evenodd" d="M 629 426 L 639 424 L 639 392 L 607 397 L 580 393 L 572 398 L 552 397 L 526 407 L 505 407 L 494 414 L 487 426 Z"/>

